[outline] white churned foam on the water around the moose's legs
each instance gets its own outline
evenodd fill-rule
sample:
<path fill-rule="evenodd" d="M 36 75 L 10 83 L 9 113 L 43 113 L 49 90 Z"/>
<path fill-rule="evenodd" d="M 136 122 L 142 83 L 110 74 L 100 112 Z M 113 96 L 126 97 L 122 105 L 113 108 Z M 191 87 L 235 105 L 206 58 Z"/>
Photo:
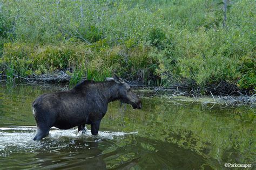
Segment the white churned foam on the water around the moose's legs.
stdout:
<path fill-rule="evenodd" d="M 10 132 L 11 131 L 11 132 Z M 33 141 L 33 137 L 36 133 L 36 126 L 17 126 L 14 128 L 0 128 L 0 151 L 6 147 L 26 147 L 36 148 L 38 147 L 38 141 Z M 125 136 L 126 134 L 136 134 L 138 132 L 110 132 L 99 131 L 97 136 L 92 136 L 90 130 L 77 132 L 77 129 L 59 130 L 57 128 L 51 128 L 49 136 L 46 139 L 58 140 L 62 137 L 68 138 L 81 138 L 85 137 L 90 141 L 100 141 L 102 139 L 114 139 L 114 137 Z M 85 140 L 86 140 L 85 139 Z"/>

